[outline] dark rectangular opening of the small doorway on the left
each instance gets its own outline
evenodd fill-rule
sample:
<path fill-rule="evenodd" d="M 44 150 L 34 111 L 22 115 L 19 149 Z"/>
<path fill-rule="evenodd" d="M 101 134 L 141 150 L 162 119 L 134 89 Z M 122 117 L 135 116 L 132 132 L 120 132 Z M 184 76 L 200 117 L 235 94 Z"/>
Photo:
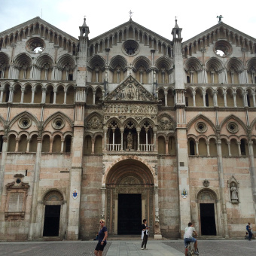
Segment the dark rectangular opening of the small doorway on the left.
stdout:
<path fill-rule="evenodd" d="M 60 206 L 45 206 L 43 236 L 59 236 Z"/>

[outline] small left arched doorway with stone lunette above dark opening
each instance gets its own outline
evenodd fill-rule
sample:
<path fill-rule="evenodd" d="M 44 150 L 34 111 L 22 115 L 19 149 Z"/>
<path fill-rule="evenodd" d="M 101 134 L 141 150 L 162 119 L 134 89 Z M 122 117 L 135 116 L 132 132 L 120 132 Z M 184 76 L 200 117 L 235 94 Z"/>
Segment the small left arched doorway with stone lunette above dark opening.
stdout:
<path fill-rule="evenodd" d="M 44 228 L 43 236 L 59 236 L 62 194 L 51 190 L 44 196 Z"/>

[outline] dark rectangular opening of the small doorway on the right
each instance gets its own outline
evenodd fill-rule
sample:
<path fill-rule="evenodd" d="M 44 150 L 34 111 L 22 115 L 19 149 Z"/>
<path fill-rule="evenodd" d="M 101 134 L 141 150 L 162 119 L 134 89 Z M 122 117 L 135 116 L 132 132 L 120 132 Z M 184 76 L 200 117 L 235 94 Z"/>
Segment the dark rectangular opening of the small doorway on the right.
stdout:
<path fill-rule="evenodd" d="M 214 203 L 200 203 L 201 234 L 216 236 Z"/>

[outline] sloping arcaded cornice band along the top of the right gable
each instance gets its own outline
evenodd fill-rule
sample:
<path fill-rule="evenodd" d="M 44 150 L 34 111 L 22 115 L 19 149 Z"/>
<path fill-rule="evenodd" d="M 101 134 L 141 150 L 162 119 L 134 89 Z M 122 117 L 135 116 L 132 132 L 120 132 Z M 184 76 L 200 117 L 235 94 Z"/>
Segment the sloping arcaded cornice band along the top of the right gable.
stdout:
<path fill-rule="evenodd" d="M 189 45 L 193 44 L 194 41 L 200 41 L 203 38 L 207 38 L 209 35 L 212 34 L 212 32 L 218 32 L 218 29 L 225 29 L 226 30 L 226 38 L 228 38 L 228 33 L 232 33 L 238 37 L 247 39 L 248 41 L 256 42 L 256 38 L 251 37 L 250 35 L 246 35 L 245 33 L 234 29 L 232 26 L 227 25 L 226 23 L 220 22 L 216 24 L 215 26 L 212 26 L 211 28 L 205 30 L 204 32 L 201 32 L 200 34 L 194 36 L 193 38 L 188 39 L 187 41 L 184 41 L 182 44 Z"/>

